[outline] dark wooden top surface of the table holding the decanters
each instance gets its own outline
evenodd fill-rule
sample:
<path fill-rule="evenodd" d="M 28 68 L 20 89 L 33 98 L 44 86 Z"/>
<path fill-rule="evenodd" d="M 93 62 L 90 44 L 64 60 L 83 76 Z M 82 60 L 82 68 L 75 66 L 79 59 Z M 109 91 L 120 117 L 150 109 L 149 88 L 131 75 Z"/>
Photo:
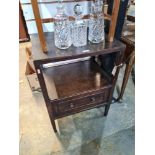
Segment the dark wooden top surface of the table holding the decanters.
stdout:
<path fill-rule="evenodd" d="M 73 45 L 68 49 L 61 50 L 58 49 L 54 44 L 54 33 L 46 32 L 44 33 L 48 52 L 43 53 L 39 41 L 38 34 L 32 34 L 31 42 L 32 42 L 32 58 L 34 61 L 40 61 L 42 63 L 63 61 L 69 59 L 82 58 L 86 56 L 95 56 L 100 54 L 107 54 L 112 52 L 118 52 L 120 50 L 125 49 L 125 45 L 114 39 L 113 42 L 108 42 L 107 39 L 105 41 L 93 44 L 91 42 L 87 42 L 86 46 L 83 47 L 74 47 Z M 107 38 L 107 37 L 106 37 Z"/>

